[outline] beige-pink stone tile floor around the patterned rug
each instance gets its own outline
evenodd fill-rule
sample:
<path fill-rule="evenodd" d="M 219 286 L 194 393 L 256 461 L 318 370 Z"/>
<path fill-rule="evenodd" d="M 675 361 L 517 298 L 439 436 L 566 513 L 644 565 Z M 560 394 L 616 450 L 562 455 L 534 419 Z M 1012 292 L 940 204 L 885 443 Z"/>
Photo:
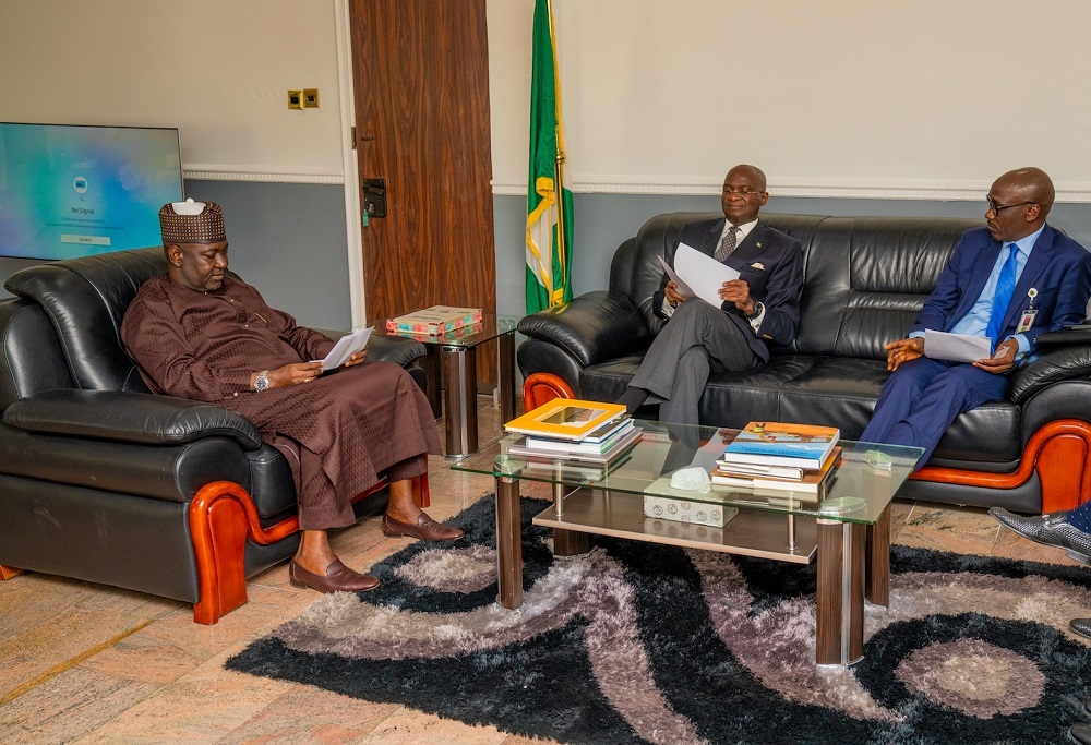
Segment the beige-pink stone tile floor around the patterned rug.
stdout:
<path fill-rule="evenodd" d="M 479 402 L 484 443 L 499 434 L 500 416 L 491 398 Z M 429 513 L 436 519 L 492 491 L 490 478 L 452 471 L 444 458 L 432 458 L 429 467 Z M 527 485 L 524 491 L 531 491 Z M 911 546 L 1072 563 L 1058 550 L 1000 530 L 975 508 L 896 502 L 891 538 Z M 353 567 L 371 566 L 408 540 L 384 538 L 377 518 L 333 537 Z M 0 581 L 0 742 L 543 742 L 228 672 L 228 657 L 317 600 L 288 584 L 286 565 L 253 578 L 249 597 L 218 624 L 201 626 L 190 606 L 137 592 L 31 573 Z"/>

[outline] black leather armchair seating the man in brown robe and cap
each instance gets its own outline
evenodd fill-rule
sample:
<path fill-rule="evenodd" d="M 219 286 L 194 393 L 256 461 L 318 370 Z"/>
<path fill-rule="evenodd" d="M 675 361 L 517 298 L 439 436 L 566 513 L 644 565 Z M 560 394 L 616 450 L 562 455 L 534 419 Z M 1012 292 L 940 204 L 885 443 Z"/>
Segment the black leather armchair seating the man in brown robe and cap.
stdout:
<path fill-rule="evenodd" d="M 161 249 L 41 264 L 0 302 L 0 576 L 31 569 L 194 603 L 215 623 L 299 543 L 291 471 L 244 417 L 148 393 L 118 328 Z M 373 336 L 407 367 L 419 341 Z M 416 484 L 427 504 L 427 477 Z M 358 515 L 385 506 L 376 488 Z"/>

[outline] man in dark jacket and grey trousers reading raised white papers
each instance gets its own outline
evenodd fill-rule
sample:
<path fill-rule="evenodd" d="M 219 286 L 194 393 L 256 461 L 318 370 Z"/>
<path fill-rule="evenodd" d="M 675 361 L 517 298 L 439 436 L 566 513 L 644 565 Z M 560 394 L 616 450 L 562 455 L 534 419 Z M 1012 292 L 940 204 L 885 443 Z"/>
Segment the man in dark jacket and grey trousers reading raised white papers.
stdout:
<path fill-rule="evenodd" d="M 690 223 L 685 243 L 739 271 L 723 283 L 722 301 L 711 305 L 686 299 L 663 275 L 652 297 L 656 314 L 668 323 L 645 355 L 619 402 L 630 412 L 645 401 L 660 404 L 666 422 L 697 423 L 710 370 L 751 370 L 769 361 L 766 341 L 788 344 L 800 320 L 803 254 L 800 242 L 758 221 L 769 201 L 765 173 L 754 166 L 735 166 L 723 179 L 723 219 Z M 676 250 L 678 247 L 675 247 Z"/>

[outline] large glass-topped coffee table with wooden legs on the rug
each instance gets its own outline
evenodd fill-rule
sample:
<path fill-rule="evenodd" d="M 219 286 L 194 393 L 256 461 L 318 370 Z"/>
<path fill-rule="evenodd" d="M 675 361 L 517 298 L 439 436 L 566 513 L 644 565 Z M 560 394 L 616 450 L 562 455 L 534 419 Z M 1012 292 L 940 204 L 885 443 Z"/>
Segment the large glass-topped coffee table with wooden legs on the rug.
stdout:
<path fill-rule="evenodd" d="M 722 527 L 647 517 L 644 496 L 676 469 L 709 470 L 733 431 L 640 421 L 644 435 L 608 472 L 562 460 L 507 454 L 519 436 L 505 436 L 452 466 L 496 480 L 497 602 L 523 604 L 519 482 L 552 484 L 553 504 L 533 524 L 553 528 L 553 553 L 590 550 L 590 536 L 722 551 L 775 561 L 817 561 L 815 651 L 818 664 L 852 664 L 863 657 L 864 601 L 887 605 L 890 579 L 890 501 L 924 454 L 841 441 L 840 464 L 826 495 L 732 489 L 686 490 L 684 498 L 709 510 L 738 509 Z M 724 435 L 728 438 L 724 438 Z"/>

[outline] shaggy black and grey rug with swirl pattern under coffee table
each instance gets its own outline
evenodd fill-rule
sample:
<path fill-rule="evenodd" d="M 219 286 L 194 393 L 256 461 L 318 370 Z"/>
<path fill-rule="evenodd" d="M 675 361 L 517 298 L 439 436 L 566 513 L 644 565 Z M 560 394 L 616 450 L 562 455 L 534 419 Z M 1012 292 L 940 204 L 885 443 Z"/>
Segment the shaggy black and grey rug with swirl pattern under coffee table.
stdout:
<path fill-rule="evenodd" d="M 864 660 L 817 669 L 814 567 L 597 539 L 554 560 L 524 502 L 525 605 L 494 603 L 491 498 L 372 592 L 227 666 L 565 743 L 1043 743 L 1086 718 L 1091 569 L 895 546 Z"/>

